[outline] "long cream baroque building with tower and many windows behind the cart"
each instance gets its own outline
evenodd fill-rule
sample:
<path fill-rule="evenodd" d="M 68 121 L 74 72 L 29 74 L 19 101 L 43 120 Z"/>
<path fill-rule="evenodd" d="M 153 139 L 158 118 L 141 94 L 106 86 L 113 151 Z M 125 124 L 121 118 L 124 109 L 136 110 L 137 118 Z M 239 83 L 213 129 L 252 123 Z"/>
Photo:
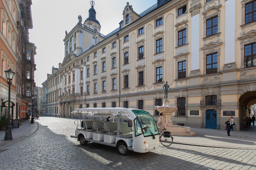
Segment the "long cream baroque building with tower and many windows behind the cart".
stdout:
<path fill-rule="evenodd" d="M 154 110 L 168 100 L 174 125 L 243 128 L 256 103 L 255 0 L 157 0 L 137 14 L 128 2 L 120 27 L 104 36 L 93 6 L 64 38 L 65 57 L 43 85 L 43 114 L 74 108 Z M 256 7 L 255 7 L 256 9 Z M 102 17 L 102 16 L 101 16 Z"/>

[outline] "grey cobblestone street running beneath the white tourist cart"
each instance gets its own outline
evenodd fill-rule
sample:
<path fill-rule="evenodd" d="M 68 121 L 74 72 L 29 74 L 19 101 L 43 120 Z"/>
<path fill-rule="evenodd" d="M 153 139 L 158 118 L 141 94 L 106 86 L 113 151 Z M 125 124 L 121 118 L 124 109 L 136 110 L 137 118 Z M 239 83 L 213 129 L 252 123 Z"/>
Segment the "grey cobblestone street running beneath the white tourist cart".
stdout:
<path fill-rule="evenodd" d="M 75 128 L 74 119 L 40 117 L 34 133 L 0 145 L 0 169 L 256 169 L 255 150 L 172 144 L 121 156 L 114 147 L 81 146 L 70 137 Z"/>

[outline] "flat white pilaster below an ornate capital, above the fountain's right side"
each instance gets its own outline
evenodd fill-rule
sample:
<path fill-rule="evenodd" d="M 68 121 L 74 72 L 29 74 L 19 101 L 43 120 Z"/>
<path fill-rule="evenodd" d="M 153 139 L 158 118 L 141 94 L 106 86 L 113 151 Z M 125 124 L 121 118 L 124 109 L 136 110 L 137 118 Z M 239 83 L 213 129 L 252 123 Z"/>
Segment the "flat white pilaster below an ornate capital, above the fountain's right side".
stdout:
<path fill-rule="evenodd" d="M 199 69 L 200 14 L 191 17 L 191 71 Z"/>

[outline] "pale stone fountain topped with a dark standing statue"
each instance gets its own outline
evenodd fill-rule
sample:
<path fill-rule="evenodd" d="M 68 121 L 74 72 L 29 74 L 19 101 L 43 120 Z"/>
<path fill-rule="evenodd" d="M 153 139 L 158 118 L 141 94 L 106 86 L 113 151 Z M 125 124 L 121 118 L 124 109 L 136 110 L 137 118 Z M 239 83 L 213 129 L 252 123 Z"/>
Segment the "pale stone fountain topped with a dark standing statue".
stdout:
<path fill-rule="evenodd" d="M 163 116 L 165 118 L 165 125 L 167 127 L 166 131 L 171 132 L 171 135 L 176 135 L 176 136 L 186 136 L 186 135 L 195 135 L 196 133 L 194 131 L 190 130 L 190 127 L 185 127 L 185 126 L 178 126 L 178 125 L 173 125 L 171 116 L 172 113 L 178 110 L 176 106 L 172 107 L 169 105 L 169 101 L 167 100 L 167 95 L 169 91 L 169 85 L 167 84 L 168 82 L 166 81 L 165 84 L 163 85 L 163 93 L 164 93 L 164 104 L 163 106 L 156 106 L 155 109 L 158 112 L 163 113 Z"/>

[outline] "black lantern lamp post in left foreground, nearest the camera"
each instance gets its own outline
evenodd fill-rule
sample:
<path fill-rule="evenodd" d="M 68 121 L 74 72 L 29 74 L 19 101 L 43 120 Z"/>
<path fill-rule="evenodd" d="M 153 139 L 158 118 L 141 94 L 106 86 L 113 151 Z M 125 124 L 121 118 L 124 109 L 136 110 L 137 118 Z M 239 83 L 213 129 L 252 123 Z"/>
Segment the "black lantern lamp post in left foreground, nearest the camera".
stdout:
<path fill-rule="evenodd" d="M 10 116 L 10 104 L 11 104 L 11 84 L 12 79 L 14 77 L 14 72 L 11 70 L 11 68 L 7 71 L 4 71 L 5 75 L 7 77 L 7 83 L 9 85 L 9 94 L 8 94 L 8 118 L 7 118 L 7 126 L 5 130 L 5 136 L 4 140 L 12 140 L 12 126 L 11 126 L 11 116 Z"/>

